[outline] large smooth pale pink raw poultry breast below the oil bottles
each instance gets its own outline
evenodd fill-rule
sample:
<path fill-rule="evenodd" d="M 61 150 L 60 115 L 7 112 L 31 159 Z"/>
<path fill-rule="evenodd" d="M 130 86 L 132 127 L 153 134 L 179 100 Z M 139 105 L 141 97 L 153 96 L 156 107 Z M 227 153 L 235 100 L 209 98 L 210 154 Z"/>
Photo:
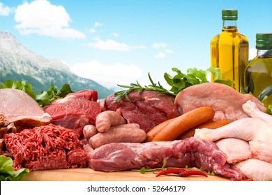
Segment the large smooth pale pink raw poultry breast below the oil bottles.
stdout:
<path fill-rule="evenodd" d="M 266 112 L 266 108 L 257 98 L 250 94 L 242 94 L 225 84 L 204 83 L 183 89 L 174 104 L 184 114 L 197 107 L 212 107 L 216 112 L 213 120 L 238 120 L 247 118 L 248 115 L 242 109 L 243 104 L 251 100 L 257 104 L 260 111 Z"/>

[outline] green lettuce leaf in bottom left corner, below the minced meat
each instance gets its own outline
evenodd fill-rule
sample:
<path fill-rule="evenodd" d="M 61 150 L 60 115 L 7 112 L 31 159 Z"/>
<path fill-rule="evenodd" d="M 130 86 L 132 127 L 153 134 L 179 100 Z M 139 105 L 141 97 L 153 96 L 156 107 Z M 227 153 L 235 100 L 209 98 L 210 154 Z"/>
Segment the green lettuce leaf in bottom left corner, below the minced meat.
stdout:
<path fill-rule="evenodd" d="M 0 181 L 21 181 L 29 173 L 29 169 L 13 170 L 13 159 L 0 156 Z"/>

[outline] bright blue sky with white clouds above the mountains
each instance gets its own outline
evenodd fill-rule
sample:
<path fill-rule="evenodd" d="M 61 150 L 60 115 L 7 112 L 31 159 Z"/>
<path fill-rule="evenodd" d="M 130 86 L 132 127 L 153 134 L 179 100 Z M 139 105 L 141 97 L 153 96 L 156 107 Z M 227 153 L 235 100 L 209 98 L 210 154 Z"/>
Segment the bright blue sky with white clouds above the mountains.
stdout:
<path fill-rule="evenodd" d="M 0 31 L 104 86 L 149 84 L 150 72 L 167 88 L 163 74 L 174 67 L 209 68 L 225 8 L 239 11 L 239 32 L 255 56 L 255 34 L 272 32 L 271 0 L 0 0 Z"/>

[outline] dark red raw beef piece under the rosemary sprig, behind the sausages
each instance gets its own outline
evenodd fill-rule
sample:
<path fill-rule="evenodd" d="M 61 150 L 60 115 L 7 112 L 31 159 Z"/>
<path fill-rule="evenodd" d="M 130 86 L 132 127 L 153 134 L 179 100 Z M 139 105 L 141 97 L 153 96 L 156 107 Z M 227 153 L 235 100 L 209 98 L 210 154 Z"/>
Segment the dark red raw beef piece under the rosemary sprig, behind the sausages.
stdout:
<path fill-rule="evenodd" d="M 146 132 L 163 121 L 180 115 L 172 95 L 156 91 L 132 91 L 128 93 L 130 101 L 123 98 L 116 102 L 117 98 L 114 94 L 105 98 L 106 109 L 121 112 L 128 123 L 137 123 Z"/>

